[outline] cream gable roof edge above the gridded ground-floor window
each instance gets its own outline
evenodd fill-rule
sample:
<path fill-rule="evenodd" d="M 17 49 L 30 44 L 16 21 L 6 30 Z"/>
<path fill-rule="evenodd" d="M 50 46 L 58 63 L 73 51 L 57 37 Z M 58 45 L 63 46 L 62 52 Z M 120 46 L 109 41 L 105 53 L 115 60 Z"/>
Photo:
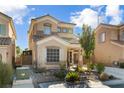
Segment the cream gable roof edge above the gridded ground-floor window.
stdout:
<path fill-rule="evenodd" d="M 59 38 L 57 36 L 49 36 L 47 38 L 44 38 L 42 40 L 37 41 L 37 45 L 43 44 L 45 42 L 48 42 L 49 40 L 56 40 L 56 41 L 60 42 L 63 45 L 69 45 L 70 44 L 69 42 L 66 42 L 66 41 L 64 41 L 63 39 L 61 39 L 61 38 Z"/>

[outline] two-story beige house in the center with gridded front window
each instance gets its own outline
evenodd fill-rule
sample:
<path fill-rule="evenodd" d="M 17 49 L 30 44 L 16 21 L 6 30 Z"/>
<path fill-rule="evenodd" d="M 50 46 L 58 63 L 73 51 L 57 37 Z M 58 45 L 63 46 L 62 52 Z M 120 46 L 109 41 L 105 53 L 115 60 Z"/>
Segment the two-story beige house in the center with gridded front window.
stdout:
<path fill-rule="evenodd" d="M 28 38 L 33 64 L 54 69 L 64 62 L 67 65 L 81 63 L 82 49 L 73 34 L 74 26 L 50 15 L 32 19 Z"/>

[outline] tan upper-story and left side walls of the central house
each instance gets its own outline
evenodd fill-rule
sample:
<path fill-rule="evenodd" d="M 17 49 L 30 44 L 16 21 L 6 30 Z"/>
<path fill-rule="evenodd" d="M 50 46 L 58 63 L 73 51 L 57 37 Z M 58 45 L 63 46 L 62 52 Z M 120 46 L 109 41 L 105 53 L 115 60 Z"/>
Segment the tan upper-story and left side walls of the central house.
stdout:
<path fill-rule="evenodd" d="M 34 34 L 36 34 L 37 31 L 43 31 L 44 30 L 44 24 L 45 23 L 49 23 L 51 24 L 51 31 L 52 32 L 57 32 L 57 27 L 61 27 L 62 29 L 63 28 L 69 28 L 69 29 L 73 29 L 73 25 L 70 25 L 70 24 L 64 24 L 64 23 L 58 23 L 58 21 L 52 19 L 51 17 L 44 17 L 44 18 L 41 18 L 37 21 L 34 21 L 34 23 L 32 22 L 32 30 L 30 31 L 31 33 L 28 34 L 28 37 L 29 37 L 29 49 L 32 50 L 32 58 L 33 58 L 33 62 L 36 61 L 36 50 L 35 50 L 35 42 L 33 41 L 32 39 L 32 36 Z M 73 31 L 73 30 L 72 30 Z M 71 33 L 71 34 L 70 34 Z M 72 32 L 70 33 L 58 33 L 59 36 L 61 37 L 72 37 Z"/>

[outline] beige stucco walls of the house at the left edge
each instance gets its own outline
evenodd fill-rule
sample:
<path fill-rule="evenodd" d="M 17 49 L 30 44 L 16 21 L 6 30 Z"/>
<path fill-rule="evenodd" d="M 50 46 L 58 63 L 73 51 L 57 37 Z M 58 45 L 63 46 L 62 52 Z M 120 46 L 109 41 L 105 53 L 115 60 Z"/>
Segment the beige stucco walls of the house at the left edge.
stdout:
<path fill-rule="evenodd" d="M 10 37 L 15 42 L 15 36 L 12 30 L 12 26 L 10 24 L 10 20 L 0 14 L 0 24 L 6 25 L 7 33 L 5 36 L 1 37 Z M 0 54 L 2 54 L 2 61 L 6 63 L 12 63 L 12 57 L 15 57 L 15 44 L 13 43 L 10 45 L 0 45 Z M 8 56 L 7 56 L 8 54 Z"/>

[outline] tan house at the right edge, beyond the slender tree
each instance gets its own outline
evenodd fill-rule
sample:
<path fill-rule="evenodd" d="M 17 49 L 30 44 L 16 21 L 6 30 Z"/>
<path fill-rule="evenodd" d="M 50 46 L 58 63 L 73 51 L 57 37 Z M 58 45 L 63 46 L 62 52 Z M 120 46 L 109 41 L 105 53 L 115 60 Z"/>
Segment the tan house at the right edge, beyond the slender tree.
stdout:
<path fill-rule="evenodd" d="M 111 66 L 124 62 L 124 25 L 100 24 L 96 30 L 95 60 Z"/>

